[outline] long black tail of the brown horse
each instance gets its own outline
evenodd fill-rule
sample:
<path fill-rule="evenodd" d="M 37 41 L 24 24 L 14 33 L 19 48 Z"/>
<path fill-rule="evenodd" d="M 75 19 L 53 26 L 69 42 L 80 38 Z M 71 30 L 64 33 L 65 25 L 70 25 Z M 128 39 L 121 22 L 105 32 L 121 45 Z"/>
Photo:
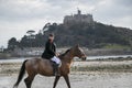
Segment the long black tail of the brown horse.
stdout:
<path fill-rule="evenodd" d="M 28 62 L 28 59 L 23 62 L 23 64 L 22 64 L 22 66 L 21 66 L 21 69 L 20 69 L 20 74 L 19 74 L 18 80 L 16 80 L 16 82 L 14 84 L 13 88 L 18 88 L 18 85 L 19 85 L 20 81 L 22 80 L 22 78 L 23 78 L 23 76 L 24 76 L 24 74 L 25 74 L 25 63 L 26 63 L 26 62 Z"/>

